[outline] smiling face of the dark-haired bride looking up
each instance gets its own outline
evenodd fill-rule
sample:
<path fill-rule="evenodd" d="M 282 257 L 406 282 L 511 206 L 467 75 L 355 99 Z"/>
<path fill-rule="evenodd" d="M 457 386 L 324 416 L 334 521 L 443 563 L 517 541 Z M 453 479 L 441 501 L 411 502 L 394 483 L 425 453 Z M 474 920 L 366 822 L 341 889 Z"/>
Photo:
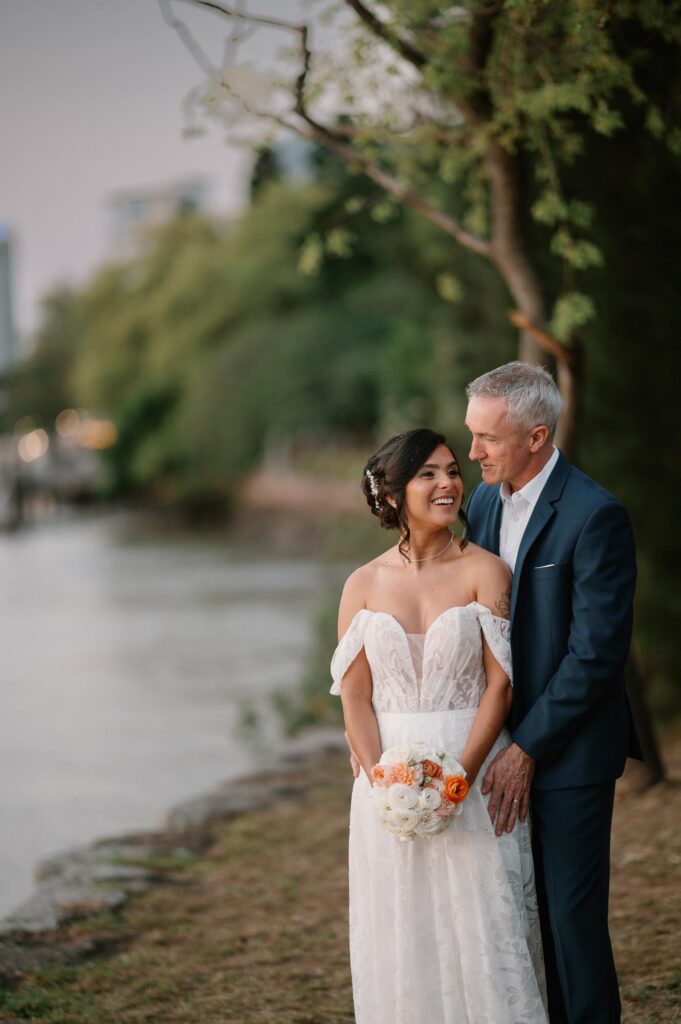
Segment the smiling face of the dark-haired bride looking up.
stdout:
<path fill-rule="evenodd" d="M 438 444 L 405 488 L 405 509 L 410 528 L 419 523 L 443 528 L 456 521 L 463 498 L 457 460 Z"/>

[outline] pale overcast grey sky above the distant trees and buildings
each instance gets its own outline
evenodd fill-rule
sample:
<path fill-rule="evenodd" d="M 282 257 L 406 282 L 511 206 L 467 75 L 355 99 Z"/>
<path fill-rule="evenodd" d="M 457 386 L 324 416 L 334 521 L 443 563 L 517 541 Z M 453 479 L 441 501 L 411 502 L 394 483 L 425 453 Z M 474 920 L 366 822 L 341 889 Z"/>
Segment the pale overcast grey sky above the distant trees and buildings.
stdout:
<path fill-rule="evenodd" d="M 292 17 L 300 3 L 251 6 Z M 217 15 L 175 10 L 219 59 Z M 260 34 L 250 45 L 281 41 Z M 216 210 L 243 205 L 248 153 L 225 144 L 217 125 L 183 137 L 182 100 L 201 80 L 157 0 L 0 0 L 0 221 L 16 242 L 23 332 L 35 328 L 41 295 L 105 258 L 113 193 L 199 175 Z"/>

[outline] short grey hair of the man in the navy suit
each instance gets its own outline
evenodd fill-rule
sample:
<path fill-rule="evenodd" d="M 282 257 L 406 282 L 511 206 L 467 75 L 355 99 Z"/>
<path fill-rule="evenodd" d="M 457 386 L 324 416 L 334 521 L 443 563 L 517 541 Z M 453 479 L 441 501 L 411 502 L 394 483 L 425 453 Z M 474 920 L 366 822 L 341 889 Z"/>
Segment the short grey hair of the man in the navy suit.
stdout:
<path fill-rule="evenodd" d="M 506 362 L 476 377 L 466 388 L 466 397 L 469 401 L 503 398 L 511 423 L 523 430 L 542 424 L 549 428 L 551 440 L 563 408 L 560 391 L 548 370 L 528 362 Z"/>

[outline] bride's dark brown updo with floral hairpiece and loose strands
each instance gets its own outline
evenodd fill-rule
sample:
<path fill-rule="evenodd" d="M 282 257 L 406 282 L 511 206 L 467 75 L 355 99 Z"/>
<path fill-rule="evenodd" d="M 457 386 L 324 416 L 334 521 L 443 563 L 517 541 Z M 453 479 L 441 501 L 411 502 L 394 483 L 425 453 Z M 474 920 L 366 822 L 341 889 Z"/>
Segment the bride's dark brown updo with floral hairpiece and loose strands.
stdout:
<path fill-rule="evenodd" d="M 452 452 L 446 437 L 428 427 L 395 434 L 371 457 L 361 473 L 361 489 L 367 504 L 384 529 L 399 530 L 398 550 L 407 561 L 410 560 L 410 528 L 405 508 L 405 490 L 438 444 L 444 444 Z M 452 455 L 458 464 L 459 460 L 454 452 Z M 390 504 L 388 498 L 392 498 L 394 505 Z M 470 527 L 463 502 L 459 509 L 459 519 L 464 527 L 461 535 L 461 547 L 464 548 Z"/>

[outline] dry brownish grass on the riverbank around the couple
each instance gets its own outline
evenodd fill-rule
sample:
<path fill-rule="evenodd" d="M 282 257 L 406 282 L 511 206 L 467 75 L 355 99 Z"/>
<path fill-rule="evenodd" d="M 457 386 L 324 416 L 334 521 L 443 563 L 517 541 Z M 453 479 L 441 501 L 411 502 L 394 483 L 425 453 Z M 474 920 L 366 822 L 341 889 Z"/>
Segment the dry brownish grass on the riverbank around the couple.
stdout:
<path fill-rule="evenodd" d="M 681 778 L 681 741 L 667 750 Z M 341 756 L 309 772 L 302 800 L 235 818 L 120 912 L 46 941 L 96 939 L 84 963 L 17 979 L 0 1022 L 32 1024 L 351 1024 L 346 842 L 349 773 Z M 625 1024 L 681 1022 L 678 935 L 681 785 L 615 806 L 612 937 Z"/>

